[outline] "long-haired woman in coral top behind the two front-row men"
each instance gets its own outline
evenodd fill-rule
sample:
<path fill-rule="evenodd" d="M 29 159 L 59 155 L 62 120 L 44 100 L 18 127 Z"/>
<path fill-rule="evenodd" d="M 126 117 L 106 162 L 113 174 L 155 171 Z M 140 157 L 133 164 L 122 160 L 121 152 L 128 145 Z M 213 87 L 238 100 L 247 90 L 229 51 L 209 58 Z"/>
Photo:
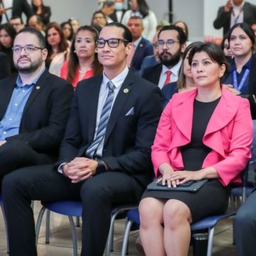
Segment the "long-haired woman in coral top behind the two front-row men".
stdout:
<path fill-rule="evenodd" d="M 68 80 L 75 88 L 80 80 L 102 73 L 97 59 L 95 41 L 98 32 L 91 26 L 81 26 L 70 47 L 70 55 L 60 71 L 60 77 Z"/>

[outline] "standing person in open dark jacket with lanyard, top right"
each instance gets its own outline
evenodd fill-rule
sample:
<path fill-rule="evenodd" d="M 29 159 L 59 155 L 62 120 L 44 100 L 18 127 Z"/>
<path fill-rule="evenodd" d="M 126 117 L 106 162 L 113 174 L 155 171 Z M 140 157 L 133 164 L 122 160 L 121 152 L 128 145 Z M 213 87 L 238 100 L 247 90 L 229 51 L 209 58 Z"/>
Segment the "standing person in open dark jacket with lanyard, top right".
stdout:
<path fill-rule="evenodd" d="M 225 6 L 218 10 L 217 18 L 213 21 L 216 29 L 223 28 L 225 36 L 235 23 L 245 22 L 249 25 L 256 20 L 256 6 L 243 0 L 228 0 Z"/>

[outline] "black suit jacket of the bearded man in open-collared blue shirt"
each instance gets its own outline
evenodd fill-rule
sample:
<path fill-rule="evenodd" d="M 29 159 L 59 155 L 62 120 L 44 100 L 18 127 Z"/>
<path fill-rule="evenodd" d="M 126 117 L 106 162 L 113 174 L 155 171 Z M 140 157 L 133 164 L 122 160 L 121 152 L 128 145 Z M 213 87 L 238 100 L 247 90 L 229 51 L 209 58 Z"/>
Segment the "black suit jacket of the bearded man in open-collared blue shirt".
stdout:
<path fill-rule="evenodd" d="M 0 120 L 11 100 L 16 79 L 15 76 L 0 81 Z M 50 157 L 56 156 L 65 132 L 72 98 L 72 85 L 45 70 L 28 97 L 19 134 L 7 137 L 6 141 L 21 140 L 35 151 Z"/>

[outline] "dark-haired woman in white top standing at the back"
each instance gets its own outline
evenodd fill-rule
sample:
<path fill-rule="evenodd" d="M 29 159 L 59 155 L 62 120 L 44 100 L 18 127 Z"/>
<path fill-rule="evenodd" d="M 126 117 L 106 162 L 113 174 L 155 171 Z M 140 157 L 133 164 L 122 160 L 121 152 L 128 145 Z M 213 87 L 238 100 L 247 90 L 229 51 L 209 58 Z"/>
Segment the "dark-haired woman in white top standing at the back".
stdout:
<path fill-rule="evenodd" d="M 129 18 L 131 16 L 140 16 L 143 20 L 144 31 L 142 36 L 149 41 L 153 40 L 153 36 L 156 33 L 157 19 L 153 11 L 149 9 L 145 0 L 129 0 L 130 10 L 126 11 L 122 23 L 127 26 Z"/>

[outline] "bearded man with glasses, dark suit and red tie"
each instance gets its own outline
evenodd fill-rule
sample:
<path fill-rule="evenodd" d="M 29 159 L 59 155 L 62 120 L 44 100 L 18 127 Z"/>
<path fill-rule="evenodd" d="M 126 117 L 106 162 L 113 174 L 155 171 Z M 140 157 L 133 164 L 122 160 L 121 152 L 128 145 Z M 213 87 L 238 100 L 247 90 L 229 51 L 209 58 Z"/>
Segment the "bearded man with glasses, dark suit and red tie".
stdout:
<path fill-rule="evenodd" d="M 186 48 L 186 35 L 177 26 L 164 26 L 159 31 L 157 47 L 161 63 L 146 68 L 142 78 L 162 88 L 178 79 L 181 56 Z"/>

